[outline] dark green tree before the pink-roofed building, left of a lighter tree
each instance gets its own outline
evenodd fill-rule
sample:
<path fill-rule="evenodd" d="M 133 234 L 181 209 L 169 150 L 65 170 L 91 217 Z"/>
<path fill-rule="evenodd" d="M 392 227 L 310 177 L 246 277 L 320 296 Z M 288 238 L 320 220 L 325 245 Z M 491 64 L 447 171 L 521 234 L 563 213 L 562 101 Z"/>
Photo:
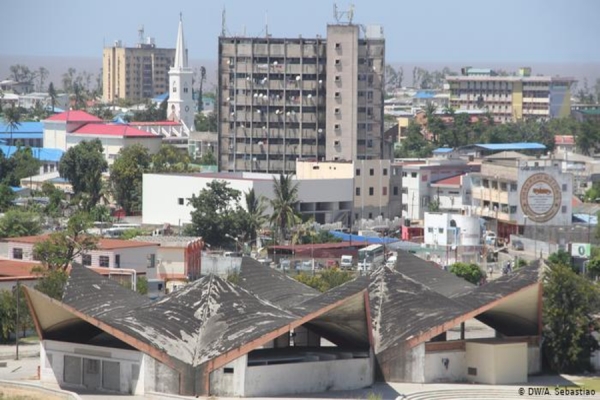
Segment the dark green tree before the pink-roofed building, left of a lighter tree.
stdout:
<path fill-rule="evenodd" d="M 108 169 L 104 148 L 98 139 L 71 147 L 60 159 L 58 171 L 73 186 L 82 208 L 89 211 L 102 197 L 102 173 Z"/>

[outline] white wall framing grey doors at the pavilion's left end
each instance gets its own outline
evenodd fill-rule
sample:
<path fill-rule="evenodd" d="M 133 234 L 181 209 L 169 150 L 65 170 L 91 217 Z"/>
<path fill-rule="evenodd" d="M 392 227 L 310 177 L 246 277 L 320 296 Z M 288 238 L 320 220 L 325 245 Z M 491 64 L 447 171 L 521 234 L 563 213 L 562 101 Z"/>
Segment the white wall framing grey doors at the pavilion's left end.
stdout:
<path fill-rule="evenodd" d="M 56 384 L 61 387 L 73 386 L 72 384 L 64 382 L 65 355 L 81 357 L 82 359 L 88 358 L 100 361 L 119 362 L 120 392 L 136 395 L 144 394 L 144 355 L 141 352 L 112 347 L 43 340 L 40 343 L 40 381 L 42 383 Z M 132 376 L 134 365 L 139 367 L 137 379 L 135 376 Z"/>

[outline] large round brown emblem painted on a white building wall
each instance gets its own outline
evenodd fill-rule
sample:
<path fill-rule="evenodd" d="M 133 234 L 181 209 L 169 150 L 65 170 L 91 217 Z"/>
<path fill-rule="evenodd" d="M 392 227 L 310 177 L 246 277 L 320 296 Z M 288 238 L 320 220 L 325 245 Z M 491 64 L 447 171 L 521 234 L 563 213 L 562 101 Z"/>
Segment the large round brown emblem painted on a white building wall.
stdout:
<path fill-rule="evenodd" d="M 560 185 L 551 175 L 533 174 L 521 187 L 521 209 L 533 222 L 548 222 L 562 203 Z"/>

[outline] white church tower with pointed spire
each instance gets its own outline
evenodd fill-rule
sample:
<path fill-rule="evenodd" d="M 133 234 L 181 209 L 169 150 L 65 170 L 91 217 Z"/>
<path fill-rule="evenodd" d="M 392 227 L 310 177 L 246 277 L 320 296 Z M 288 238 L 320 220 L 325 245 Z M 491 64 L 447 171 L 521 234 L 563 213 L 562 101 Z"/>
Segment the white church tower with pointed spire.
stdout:
<path fill-rule="evenodd" d="M 187 49 L 183 40 L 183 21 L 179 14 L 179 31 L 175 61 L 169 70 L 169 102 L 167 119 L 182 122 L 186 130 L 194 129 L 195 102 L 192 95 L 192 69 L 188 66 Z M 185 128 L 184 128 L 185 129 Z"/>

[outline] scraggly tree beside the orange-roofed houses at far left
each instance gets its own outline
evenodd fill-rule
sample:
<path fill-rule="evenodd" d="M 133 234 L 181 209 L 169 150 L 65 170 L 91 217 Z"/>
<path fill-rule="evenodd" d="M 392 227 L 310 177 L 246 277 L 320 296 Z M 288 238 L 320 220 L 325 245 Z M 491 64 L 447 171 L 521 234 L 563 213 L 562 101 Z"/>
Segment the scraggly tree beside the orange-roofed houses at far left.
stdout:
<path fill-rule="evenodd" d="M 64 231 L 52 233 L 33 246 L 34 258 L 47 269 L 65 271 L 75 258 L 97 248 L 98 239 L 86 233 L 91 226 L 88 214 L 73 214 Z"/>

